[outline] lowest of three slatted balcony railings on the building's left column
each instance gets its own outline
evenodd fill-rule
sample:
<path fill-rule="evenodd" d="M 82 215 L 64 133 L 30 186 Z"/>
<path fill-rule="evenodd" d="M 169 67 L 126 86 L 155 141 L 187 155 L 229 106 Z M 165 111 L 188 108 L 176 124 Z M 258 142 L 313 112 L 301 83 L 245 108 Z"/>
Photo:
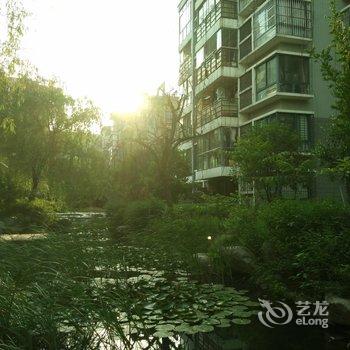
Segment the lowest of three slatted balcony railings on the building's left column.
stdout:
<path fill-rule="evenodd" d="M 220 117 L 238 117 L 238 101 L 220 99 L 199 111 L 199 126 Z"/>

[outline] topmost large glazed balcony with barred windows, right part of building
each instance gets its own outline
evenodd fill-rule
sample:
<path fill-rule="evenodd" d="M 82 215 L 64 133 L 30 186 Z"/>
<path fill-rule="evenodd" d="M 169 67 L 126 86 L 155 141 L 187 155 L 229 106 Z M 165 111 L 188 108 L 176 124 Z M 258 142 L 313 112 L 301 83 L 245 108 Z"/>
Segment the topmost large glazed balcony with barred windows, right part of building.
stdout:
<path fill-rule="evenodd" d="M 240 28 L 240 62 L 249 65 L 279 43 L 307 45 L 311 38 L 310 1 L 270 0 Z"/>

